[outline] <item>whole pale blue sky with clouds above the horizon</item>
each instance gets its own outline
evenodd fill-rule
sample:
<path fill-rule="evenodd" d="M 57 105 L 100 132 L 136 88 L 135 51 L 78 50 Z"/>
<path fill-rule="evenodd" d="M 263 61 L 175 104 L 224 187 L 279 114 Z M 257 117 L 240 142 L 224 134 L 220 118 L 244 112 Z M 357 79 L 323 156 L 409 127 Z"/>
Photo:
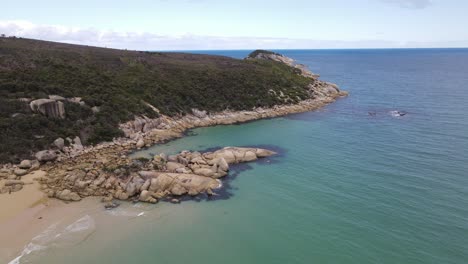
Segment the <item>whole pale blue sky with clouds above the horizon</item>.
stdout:
<path fill-rule="evenodd" d="M 12 0 L 0 34 L 138 50 L 468 47 L 466 0 Z"/>

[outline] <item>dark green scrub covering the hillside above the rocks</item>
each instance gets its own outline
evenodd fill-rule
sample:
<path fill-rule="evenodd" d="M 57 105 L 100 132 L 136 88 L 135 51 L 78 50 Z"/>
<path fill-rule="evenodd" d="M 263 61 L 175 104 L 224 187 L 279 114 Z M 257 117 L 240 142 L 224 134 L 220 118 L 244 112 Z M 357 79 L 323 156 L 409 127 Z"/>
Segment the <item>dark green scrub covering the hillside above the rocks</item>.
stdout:
<path fill-rule="evenodd" d="M 0 162 L 17 162 L 58 137 L 97 143 L 120 136 L 118 124 L 136 115 L 243 110 L 284 104 L 280 91 L 306 99 L 310 79 L 281 63 L 223 56 L 125 51 L 0 38 Z M 66 118 L 32 113 L 19 98 L 81 97 Z M 291 101 L 293 100 L 293 101 Z M 93 113 L 97 106 L 100 111 Z"/>

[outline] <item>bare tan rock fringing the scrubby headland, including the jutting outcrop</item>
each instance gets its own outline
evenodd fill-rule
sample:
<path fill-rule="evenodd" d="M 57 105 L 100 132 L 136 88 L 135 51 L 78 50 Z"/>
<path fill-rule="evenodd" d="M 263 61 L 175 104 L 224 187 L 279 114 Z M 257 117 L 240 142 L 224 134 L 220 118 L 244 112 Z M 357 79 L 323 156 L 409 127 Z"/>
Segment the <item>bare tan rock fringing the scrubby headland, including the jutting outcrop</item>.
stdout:
<path fill-rule="evenodd" d="M 114 199 L 149 203 L 168 200 L 177 203 L 184 195 L 216 195 L 216 189 L 221 186 L 219 179 L 228 174 L 231 164 L 255 161 L 275 153 L 258 148 L 226 147 L 206 153 L 183 151 L 172 156 L 160 153 L 152 159 L 131 159 L 129 154 L 182 137 L 184 132 L 195 127 L 242 123 L 311 111 L 347 95 L 335 84 L 319 80 L 318 75 L 304 65 L 296 64 L 280 54 L 256 51 L 247 59 L 271 60 L 294 68 L 297 74 L 310 79 L 308 99 L 294 102 L 295 99 L 289 95 L 271 90 L 269 93 L 280 98 L 284 104 L 245 111 L 208 112 L 193 108 L 190 114 L 176 116 L 163 115 L 148 104 L 158 113 L 158 117 L 141 115 L 120 124 L 119 129 L 124 137 L 94 146 L 84 146 L 78 136 L 57 138 L 51 142 L 49 149 L 37 152 L 35 159 L 3 165 L 0 170 L 0 193 L 6 195 L 21 191 L 25 184 L 21 178 L 32 171 L 41 170 L 45 176 L 34 180 L 48 197 L 68 202 L 100 196 L 106 202 L 106 208 L 117 206 L 112 202 Z M 42 101 L 32 101 L 30 105 L 33 111 L 62 118 L 64 109 L 61 102 L 65 100 L 70 99 L 50 96 Z"/>

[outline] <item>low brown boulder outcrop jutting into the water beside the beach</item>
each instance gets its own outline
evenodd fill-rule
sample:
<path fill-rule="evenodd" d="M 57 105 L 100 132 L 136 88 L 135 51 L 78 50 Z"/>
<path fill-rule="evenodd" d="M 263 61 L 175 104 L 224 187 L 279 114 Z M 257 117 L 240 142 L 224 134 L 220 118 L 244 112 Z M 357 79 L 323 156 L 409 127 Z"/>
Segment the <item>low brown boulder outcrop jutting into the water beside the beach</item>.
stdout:
<path fill-rule="evenodd" d="M 214 195 L 221 186 L 219 178 L 229 172 L 229 164 L 275 154 L 266 149 L 226 147 L 205 153 L 182 151 L 170 158 L 159 154 L 142 161 L 120 155 L 122 144 L 114 146 L 120 148 L 101 148 L 98 154 L 86 153 L 51 164 L 48 177 L 40 179 L 42 189 L 49 197 L 65 201 L 103 196 L 106 202 L 112 197 L 156 203 L 182 195 Z"/>

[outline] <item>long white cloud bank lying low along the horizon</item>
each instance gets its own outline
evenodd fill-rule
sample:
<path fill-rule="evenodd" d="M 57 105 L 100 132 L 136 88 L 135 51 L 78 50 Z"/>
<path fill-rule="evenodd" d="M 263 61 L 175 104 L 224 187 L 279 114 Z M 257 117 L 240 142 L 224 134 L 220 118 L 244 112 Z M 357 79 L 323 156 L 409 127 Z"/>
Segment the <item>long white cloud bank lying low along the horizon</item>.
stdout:
<path fill-rule="evenodd" d="M 386 40 L 317 40 L 289 38 L 166 36 L 151 32 L 118 32 L 94 28 L 39 25 L 29 21 L 1 21 L 0 34 L 72 44 L 136 50 L 216 49 L 340 49 L 467 47 L 468 41 L 395 42 Z"/>

